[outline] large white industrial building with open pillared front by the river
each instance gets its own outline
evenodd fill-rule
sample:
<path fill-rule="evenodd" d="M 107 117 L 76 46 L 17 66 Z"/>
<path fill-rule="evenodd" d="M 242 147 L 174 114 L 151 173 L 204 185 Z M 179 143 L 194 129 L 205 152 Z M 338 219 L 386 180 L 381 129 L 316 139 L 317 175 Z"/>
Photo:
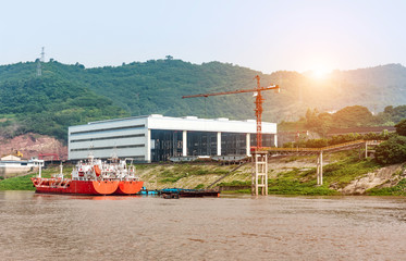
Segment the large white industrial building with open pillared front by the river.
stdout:
<path fill-rule="evenodd" d="M 69 159 L 133 158 L 138 162 L 173 157 L 249 156 L 256 146 L 255 120 L 169 117 L 160 114 L 90 122 L 69 127 Z M 276 146 L 276 124 L 262 122 L 262 146 Z M 186 145 L 186 146 L 184 146 Z"/>

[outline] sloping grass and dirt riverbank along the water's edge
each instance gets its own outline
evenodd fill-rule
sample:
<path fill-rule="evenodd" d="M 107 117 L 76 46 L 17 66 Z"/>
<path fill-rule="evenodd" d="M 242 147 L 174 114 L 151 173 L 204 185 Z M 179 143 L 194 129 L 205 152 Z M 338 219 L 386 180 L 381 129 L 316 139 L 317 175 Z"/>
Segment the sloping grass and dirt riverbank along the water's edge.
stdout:
<path fill-rule="evenodd" d="M 251 166 L 237 166 L 216 162 L 138 164 L 136 173 L 148 189 L 207 188 L 223 177 L 214 188 L 231 187 L 235 190 L 222 192 L 250 194 Z M 317 186 L 316 157 L 275 158 L 269 162 L 269 194 L 406 196 L 405 169 L 406 162 L 381 166 L 370 159 L 359 160 L 356 151 L 332 153 L 324 157 L 323 185 Z M 64 166 L 65 175 L 71 171 L 72 165 Z M 58 166 L 48 167 L 42 176 L 58 172 Z M 34 190 L 29 179 L 34 175 L 0 181 L 0 190 Z"/>

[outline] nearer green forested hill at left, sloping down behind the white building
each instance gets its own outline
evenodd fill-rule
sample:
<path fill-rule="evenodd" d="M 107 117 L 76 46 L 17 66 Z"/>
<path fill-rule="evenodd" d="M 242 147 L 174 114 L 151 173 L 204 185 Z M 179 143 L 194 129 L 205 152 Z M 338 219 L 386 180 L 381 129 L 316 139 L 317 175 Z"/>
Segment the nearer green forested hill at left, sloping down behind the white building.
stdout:
<path fill-rule="evenodd" d="M 65 140 L 70 125 L 126 115 L 109 98 L 56 75 L 0 83 L 4 138 L 32 132 Z"/>

